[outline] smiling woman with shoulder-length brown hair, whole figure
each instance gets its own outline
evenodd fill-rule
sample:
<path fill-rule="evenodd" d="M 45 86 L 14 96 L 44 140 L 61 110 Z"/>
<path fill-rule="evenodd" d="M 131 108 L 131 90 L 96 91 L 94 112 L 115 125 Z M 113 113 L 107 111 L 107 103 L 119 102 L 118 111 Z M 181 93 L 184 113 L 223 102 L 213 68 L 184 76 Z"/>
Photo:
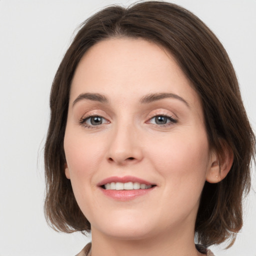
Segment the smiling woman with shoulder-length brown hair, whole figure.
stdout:
<path fill-rule="evenodd" d="M 230 60 L 192 13 L 146 1 L 90 17 L 50 108 L 45 214 L 58 230 L 91 231 L 78 255 L 232 244 L 255 140 Z"/>

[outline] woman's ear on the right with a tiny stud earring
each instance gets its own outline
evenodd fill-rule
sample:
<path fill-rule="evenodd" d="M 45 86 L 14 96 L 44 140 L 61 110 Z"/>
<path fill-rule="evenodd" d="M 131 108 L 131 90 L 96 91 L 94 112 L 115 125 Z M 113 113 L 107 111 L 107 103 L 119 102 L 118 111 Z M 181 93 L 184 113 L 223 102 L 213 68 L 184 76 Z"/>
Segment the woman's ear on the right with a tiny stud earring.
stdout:
<path fill-rule="evenodd" d="M 211 152 L 209 169 L 206 173 L 206 180 L 209 183 L 217 183 L 221 181 L 229 172 L 233 163 L 232 149 L 222 141 L 223 155 L 221 156 L 216 152 Z"/>

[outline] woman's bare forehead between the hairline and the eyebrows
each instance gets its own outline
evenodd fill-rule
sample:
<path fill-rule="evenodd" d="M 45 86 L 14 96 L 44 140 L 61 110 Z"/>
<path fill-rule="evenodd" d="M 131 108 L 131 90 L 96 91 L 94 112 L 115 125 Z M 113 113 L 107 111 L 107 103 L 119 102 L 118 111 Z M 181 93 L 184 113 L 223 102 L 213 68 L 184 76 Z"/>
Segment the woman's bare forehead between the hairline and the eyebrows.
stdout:
<path fill-rule="evenodd" d="M 165 48 L 137 38 L 111 38 L 88 49 L 75 70 L 70 100 L 84 92 L 123 99 L 167 92 L 191 104 L 199 101 L 174 57 Z"/>

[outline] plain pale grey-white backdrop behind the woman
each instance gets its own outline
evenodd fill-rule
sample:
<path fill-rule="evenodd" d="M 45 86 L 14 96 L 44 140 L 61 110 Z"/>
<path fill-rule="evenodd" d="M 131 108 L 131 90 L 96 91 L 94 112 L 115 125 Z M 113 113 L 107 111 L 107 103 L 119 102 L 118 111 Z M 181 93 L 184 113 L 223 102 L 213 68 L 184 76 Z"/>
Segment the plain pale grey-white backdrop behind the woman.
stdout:
<path fill-rule="evenodd" d="M 133 0 L 0 0 L 0 256 L 71 256 L 89 241 L 51 230 L 43 215 L 43 143 L 54 73 L 73 31 L 112 3 Z M 173 0 L 218 36 L 236 70 L 256 127 L 256 0 Z M 244 205 L 244 226 L 218 256 L 256 255 L 256 181 Z"/>

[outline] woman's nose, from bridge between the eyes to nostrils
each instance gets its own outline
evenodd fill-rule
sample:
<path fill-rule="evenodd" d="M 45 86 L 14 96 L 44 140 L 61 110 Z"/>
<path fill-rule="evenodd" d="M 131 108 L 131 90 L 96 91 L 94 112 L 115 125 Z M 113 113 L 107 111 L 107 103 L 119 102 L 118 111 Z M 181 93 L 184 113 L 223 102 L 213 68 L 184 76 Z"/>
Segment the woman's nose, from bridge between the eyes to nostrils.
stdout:
<path fill-rule="evenodd" d="M 116 125 L 109 137 L 107 160 L 118 165 L 141 161 L 143 158 L 141 136 L 132 124 Z"/>

